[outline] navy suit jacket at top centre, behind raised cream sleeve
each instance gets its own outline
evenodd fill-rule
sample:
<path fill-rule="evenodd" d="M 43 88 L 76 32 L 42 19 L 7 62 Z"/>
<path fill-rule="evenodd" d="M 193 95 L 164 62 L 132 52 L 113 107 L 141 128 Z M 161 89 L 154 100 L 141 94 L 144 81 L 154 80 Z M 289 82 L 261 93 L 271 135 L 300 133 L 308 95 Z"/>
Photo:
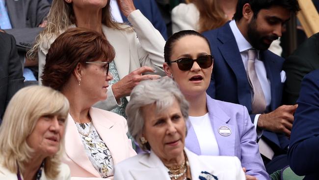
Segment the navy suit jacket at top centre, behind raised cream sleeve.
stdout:
<path fill-rule="evenodd" d="M 136 9 L 139 9 L 141 13 L 152 23 L 155 29 L 159 30 L 163 38 L 167 40 L 166 24 L 160 14 L 160 9 L 155 0 L 133 0 Z M 125 23 L 129 23 L 127 17 L 121 12 L 122 19 Z"/>

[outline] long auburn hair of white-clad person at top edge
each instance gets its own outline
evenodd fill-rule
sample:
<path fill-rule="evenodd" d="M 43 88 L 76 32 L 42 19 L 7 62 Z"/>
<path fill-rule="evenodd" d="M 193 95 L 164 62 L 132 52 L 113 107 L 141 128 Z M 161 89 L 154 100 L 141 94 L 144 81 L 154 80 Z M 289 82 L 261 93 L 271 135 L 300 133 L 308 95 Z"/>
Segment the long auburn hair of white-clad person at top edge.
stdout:
<path fill-rule="evenodd" d="M 225 13 L 216 0 L 186 0 L 186 3 L 195 4 L 199 11 L 198 32 L 219 28 L 227 22 Z"/>

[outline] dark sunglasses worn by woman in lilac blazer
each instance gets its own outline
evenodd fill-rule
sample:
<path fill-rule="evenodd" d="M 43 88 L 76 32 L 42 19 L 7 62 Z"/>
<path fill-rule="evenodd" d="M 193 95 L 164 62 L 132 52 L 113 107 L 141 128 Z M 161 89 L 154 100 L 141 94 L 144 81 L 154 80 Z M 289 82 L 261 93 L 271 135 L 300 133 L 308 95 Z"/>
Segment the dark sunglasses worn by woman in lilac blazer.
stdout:
<path fill-rule="evenodd" d="M 204 55 L 198 57 L 196 60 L 193 60 L 191 58 L 181 58 L 178 60 L 170 61 L 169 63 L 176 62 L 178 65 L 178 68 L 181 71 L 189 71 L 191 67 L 193 67 L 194 61 L 197 62 L 199 67 L 206 69 L 212 66 L 214 57 L 212 55 Z"/>

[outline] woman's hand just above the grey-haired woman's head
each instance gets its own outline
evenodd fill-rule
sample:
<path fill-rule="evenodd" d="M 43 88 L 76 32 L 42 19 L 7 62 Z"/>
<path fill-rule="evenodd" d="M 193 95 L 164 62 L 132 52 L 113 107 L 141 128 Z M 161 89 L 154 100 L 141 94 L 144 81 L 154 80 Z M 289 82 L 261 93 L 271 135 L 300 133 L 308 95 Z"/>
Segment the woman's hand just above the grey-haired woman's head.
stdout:
<path fill-rule="evenodd" d="M 159 75 L 152 75 L 147 74 L 143 75 L 145 72 L 154 72 L 152 67 L 143 66 L 134 71 L 130 74 L 124 76 L 123 79 L 118 81 L 112 86 L 112 91 L 116 101 L 119 101 L 121 97 L 129 96 L 133 88 L 143 80 L 155 80 L 159 79 Z"/>

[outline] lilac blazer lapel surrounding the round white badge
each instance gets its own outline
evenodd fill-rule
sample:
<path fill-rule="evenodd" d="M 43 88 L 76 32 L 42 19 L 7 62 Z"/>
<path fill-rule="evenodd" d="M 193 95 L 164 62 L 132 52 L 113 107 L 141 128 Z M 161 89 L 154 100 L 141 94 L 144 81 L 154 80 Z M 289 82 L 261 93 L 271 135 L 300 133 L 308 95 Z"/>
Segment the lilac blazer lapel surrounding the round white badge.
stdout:
<path fill-rule="evenodd" d="M 229 124 L 230 118 L 225 114 L 222 110 L 222 107 L 215 102 L 209 95 L 206 94 L 207 99 L 207 109 L 209 113 L 209 117 L 211 120 L 212 128 L 216 137 L 216 141 L 218 144 L 219 155 L 235 155 L 235 126 Z M 231 134 L 229 136 L 222 136 L 218 129 L 221 126 L 227 126 L 231 129 Z"/>

